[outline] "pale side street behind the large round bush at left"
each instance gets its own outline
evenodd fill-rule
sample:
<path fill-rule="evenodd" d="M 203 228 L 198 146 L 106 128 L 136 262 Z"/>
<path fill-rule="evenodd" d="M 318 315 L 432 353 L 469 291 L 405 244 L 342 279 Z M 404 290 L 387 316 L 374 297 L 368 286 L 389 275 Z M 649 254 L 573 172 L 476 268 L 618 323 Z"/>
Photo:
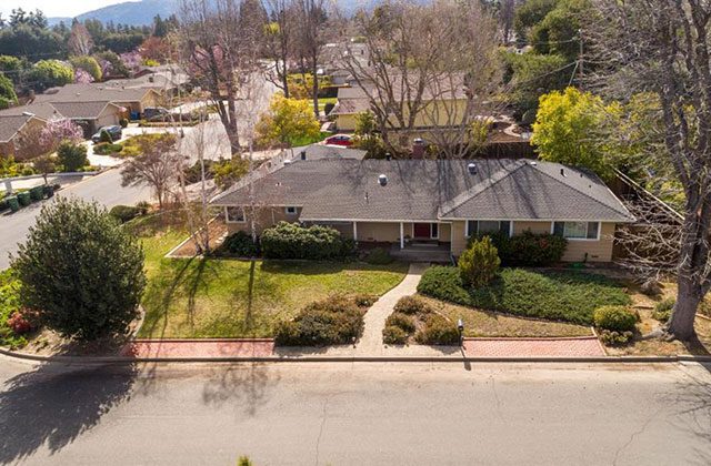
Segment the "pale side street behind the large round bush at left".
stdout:
<path fill-rule="evenodd" d="M 76 196 L 87 201 L 97 201 L 107 207 L 118 204 L 133 205 L 151 199 L 149 188 L 122 188 L 121 172 L 109 170 L 100 175 L 86 179 L 69 185 L 57 193 L 57 196 Z M 0 215 L 0 270 L 10 265 L 9 253 L 17 251 L 18 243 L 24 241 L 27 233 L 34 224 L 40 209 L 51 200 L 30 204 L 19 212 Z"/>

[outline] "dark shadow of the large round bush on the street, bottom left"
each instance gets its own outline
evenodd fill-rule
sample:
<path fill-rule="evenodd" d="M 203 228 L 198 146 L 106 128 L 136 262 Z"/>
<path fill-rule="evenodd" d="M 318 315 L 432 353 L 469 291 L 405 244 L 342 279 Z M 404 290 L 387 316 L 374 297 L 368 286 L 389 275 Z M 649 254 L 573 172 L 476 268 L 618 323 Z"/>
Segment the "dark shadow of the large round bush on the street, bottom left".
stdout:
<path fill-rule="evenodd" d="M 67 369 L 44 364 L 0 386 L 0 464 L 47 445 L 53 454 L 130 399 L 136 367 Z"/>

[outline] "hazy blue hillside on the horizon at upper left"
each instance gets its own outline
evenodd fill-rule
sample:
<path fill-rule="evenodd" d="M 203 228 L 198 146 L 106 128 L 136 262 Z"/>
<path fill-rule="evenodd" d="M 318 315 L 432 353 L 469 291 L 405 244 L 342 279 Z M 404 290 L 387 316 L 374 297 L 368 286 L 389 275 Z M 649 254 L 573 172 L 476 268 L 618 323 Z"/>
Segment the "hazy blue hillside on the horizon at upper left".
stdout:
<path fill-rule="evenodd" d="M 104 24 L 113 21 L 114 24 L 143 26 L 153 22 L 156 14 L 167 18 L 172 13 L 178 13 L 179 7 L 180 0 L 127 1 L 79 14 L 77 19 L 80 21 L 98 19 Z M 49 23 L 52 26 L 62 20 L 68 26 L 71 24 L 71 18 L 50 18 Z"/>

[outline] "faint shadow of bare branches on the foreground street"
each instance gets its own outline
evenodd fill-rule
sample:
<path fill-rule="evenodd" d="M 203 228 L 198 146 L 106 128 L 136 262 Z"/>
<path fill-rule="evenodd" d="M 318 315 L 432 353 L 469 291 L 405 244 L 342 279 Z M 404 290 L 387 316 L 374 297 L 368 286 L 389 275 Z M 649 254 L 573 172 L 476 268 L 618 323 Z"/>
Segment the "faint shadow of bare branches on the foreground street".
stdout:
<path fill-rule="evenodd" d="M 267 403 L 269 386 L 279 383 L 279 375 L 269 372 L 268 366 L 256 363 L 218 366 L 204 384 L 202 402 L 217 407 L 233 406 L 253 416 Z"/>

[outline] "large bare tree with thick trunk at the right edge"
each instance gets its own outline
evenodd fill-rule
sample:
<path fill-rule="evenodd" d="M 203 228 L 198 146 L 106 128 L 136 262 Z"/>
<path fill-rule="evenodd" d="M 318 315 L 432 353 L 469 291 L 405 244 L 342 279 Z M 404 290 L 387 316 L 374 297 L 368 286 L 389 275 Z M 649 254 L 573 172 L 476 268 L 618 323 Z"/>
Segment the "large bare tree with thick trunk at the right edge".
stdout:
<path fill-rule="evenodd" d="M 593 38 L 589 57 L 598 82 L 615 97 L 645 91 L 659 98 L 663 156 L 685 195 L 674 241 L 679 255 L 672 261 L 677 304 L 665 331 L 679 340 L 693 338 L 697 310 L 711 286 L 711 6 L 697 0 L 593 3 L 598 14 L 585 31 Z"/>

